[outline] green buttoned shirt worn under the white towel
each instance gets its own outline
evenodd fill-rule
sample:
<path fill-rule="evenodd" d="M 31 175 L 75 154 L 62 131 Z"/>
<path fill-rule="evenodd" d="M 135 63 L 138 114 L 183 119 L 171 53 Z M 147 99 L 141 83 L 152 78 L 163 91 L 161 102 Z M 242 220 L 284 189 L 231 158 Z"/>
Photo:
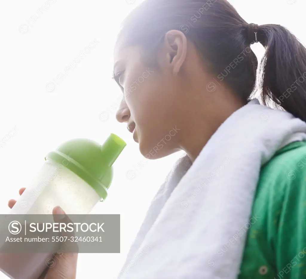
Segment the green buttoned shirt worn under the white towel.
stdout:
<path fill-rule="evenodd" d="M 306 278 L 305 141 L 263 166 L 252 216 L 238 279 Z"/>

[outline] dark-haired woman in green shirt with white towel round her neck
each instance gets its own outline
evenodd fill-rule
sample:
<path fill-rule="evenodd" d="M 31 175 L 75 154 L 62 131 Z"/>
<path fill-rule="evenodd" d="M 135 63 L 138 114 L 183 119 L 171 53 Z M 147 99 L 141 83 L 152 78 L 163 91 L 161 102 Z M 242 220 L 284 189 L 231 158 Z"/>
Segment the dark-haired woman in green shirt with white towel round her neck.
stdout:
<path fill-rule="evenodd" d="M 254 42 L 266 48 L 261 99 L 277 110 L 250 101 Z M 117 119 L 140 152 L 187 154 L 117 278 L 304 278 L 306 50 L 296 37 L 248 24 L 226 0 L 145 0 L 118 36 L 114 79 Z M 69 259 L 65 277 L 46 278 L 75 278 Z"/>

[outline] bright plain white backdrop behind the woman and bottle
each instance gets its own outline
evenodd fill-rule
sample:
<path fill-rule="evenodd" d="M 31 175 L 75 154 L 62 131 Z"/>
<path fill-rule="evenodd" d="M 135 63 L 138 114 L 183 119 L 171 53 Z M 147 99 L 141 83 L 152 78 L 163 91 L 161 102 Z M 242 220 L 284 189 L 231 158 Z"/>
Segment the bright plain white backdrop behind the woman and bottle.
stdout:
<path fill-rule="evenodd" d="M 18 198 L 18 189 L 31 183 L 44 156 L 61 143 L 72 138 L 103 143 L 110 133 L 127 142 L 114 164 L 109 196 L 93 210 L 121 215 L 121 253 L 80 254 L 78 279 L 117 278 L 153 196 L 182 155 L 149 161 L 143 169 L 135 169 L 143 157 L 126 124 L 117 123 L 110 108 L 121 94 L 111 80 L 116 35 L 124 17 L 142 2 L 127 1 L 57 0 L 35 23 L 30 17 L 39 16 L 46 0 L 3 1 L 0 10 L 0 140 L 18 129 L 10 139 L 6 136 L 5 144 L 0 142 L 0 213 L 8 212 L 8 200 Z M 247 22 L 281 24 L 306 41 L 304 0 L 230 2 Z M 99 41 L 95 48 L 58 82 L 56 76 L 95 39 Z M 252 49 L 260 59 L 263 47 L 256 44 Z M 51 82 L 55 90 L 47 92 L 46 84 Z M 102 112 L 108 116 L 100 117 Z M 129 170 L 133 170 L 130 179 L 126 177 Z M 0 278 L 7 277 L 0 274 Z"/>

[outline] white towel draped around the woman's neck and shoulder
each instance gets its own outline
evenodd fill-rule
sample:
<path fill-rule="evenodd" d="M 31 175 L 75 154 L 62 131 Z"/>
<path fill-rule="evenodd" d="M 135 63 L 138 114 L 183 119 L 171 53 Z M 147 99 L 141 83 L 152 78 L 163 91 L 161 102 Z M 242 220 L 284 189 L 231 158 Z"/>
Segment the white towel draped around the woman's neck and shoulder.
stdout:
<path fill-rule="evenodd" d="M 250 216 L 260 168 L 277 150 L 304 140 L 306 123 L 257 99 L 234 112 L 193 164 L 187 155 L 178 160 L 117 278 L 237 278 L 246 224 L 260 218 Z"/>

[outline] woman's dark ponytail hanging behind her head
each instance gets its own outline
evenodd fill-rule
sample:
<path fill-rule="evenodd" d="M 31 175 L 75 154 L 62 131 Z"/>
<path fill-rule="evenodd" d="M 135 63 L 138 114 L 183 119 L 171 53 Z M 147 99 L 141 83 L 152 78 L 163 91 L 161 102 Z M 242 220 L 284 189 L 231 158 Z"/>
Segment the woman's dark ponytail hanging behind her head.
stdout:
<path fill-rule="evenodd" d="M 270 99 L 306 122 L 305 47 L 281 25 L 261 25 L 257 37 L 266 48 L 261 67 L 263 103 Z"/>

